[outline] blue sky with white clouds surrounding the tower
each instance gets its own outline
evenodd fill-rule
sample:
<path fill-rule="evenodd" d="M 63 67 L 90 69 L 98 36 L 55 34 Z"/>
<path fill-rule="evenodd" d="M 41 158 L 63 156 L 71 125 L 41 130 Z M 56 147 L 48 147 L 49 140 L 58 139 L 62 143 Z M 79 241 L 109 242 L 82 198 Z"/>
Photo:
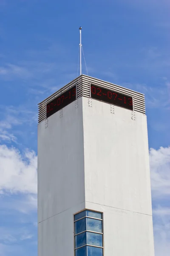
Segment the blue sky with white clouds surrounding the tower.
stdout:
<path fill-rule="evenodd" d="M 37 103 L 77 77 L 79 26 L 88 75 L 145 94 L 155 255 L 169 255 L 169 13 L 169 0 L 0 0 L 0 256 L 37 255 Z"/>

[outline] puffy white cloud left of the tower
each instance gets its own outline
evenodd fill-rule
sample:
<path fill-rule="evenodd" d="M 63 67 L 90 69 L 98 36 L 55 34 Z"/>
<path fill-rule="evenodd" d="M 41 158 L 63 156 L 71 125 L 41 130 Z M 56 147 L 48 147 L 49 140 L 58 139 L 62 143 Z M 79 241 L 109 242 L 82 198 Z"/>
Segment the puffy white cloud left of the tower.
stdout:
<path fill-rule="evenodd" d="M 37 156 L 0 145 L 0 192 L 37 194 Z"/>

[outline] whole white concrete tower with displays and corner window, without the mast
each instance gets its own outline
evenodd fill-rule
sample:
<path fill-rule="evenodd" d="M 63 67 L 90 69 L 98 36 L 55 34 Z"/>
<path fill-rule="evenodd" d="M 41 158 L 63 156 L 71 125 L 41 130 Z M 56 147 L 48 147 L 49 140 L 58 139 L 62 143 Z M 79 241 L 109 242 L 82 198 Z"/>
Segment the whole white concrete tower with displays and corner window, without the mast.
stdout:
<path fill-rule="evenodd" d="M 39 104 L 38 255 L 154 256 L 143 94 L 81 75 Z"/>

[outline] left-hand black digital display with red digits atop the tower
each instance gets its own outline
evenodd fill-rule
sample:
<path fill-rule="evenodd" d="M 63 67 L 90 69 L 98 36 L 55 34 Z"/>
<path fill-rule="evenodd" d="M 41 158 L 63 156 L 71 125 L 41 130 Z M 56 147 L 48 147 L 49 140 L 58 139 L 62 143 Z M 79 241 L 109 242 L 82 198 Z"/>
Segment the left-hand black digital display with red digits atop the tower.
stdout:
<path fill-rule="evenodd" d="M 74 100 L 76 100 L 76 85 L 71 87 L 69 90 L 66 90 L 55 99 L 51 100 L 51 102 L 47 103 L 46 118 L 64 108 Z"/>

